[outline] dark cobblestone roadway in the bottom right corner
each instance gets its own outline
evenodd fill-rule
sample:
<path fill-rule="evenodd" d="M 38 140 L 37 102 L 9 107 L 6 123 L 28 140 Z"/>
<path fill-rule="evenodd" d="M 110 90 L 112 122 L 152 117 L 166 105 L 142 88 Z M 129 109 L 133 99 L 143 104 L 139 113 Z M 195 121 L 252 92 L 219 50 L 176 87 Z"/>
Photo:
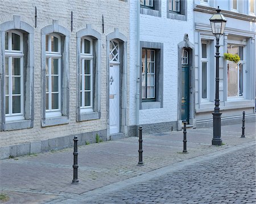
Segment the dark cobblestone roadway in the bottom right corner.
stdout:
<path fill-rule="evenodd" d="M 86 203 L 256 203 L 255 162 L 250 146 Z"/>

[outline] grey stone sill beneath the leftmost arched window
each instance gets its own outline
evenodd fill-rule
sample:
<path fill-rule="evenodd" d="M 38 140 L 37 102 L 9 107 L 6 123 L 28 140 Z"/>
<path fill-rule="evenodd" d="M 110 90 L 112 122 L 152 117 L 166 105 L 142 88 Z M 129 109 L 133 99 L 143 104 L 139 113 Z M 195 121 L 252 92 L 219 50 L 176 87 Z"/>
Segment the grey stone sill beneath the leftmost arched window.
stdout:
<path fill-rule="evenodd" d="M 8 121 L 5 122 L 3 131 L 33 128 L 33 125 L 32 120 Z"/>

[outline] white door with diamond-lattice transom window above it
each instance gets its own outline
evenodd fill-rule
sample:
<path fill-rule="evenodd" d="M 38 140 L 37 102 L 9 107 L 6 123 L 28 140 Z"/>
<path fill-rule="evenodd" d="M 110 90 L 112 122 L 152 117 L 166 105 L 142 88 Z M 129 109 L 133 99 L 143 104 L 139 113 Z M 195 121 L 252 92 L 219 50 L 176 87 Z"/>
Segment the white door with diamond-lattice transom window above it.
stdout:
<path fill-rule="evenodd" d="M 120 126 L 120 71 L 119 71 L 119 43 L 110 41 L 109 67 L 109 120 L 110 134 L 119 133 Z"/>

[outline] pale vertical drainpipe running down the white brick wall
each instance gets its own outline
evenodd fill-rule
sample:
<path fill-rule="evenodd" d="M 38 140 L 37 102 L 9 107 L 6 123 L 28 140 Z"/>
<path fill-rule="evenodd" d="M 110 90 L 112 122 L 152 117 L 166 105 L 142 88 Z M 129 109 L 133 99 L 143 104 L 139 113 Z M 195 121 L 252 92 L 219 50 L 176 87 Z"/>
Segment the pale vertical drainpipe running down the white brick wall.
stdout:
<path fill-rule="evenodd" d="M 141 48 L 140 48 L 140 42 L 139 42 L 139 15 L 140 15 L 140 10 L 141 10 L 141 4 L 140 1 L 137 2 L 137 13 L 136 13 L 136 53 L 137 53 L 137 75 L 136 75 L 136 112 L 135 112 L 135 133 L 136 137 L 138 137 L 138 129 L 139 129 L 139 85 L 140 85 L 140 70 L 141 70 Z"/>

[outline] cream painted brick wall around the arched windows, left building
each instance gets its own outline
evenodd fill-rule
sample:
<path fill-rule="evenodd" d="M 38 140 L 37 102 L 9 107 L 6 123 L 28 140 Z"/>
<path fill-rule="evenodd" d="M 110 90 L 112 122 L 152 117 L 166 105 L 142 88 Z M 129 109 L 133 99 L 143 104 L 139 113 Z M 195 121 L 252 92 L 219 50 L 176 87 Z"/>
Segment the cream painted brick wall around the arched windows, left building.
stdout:
<path fill-rule="evenodd" d="M 34 128 L 0 132 L 0 146 L 23 142 L 40 141 L 65 135 L 79 134 L 106 129 L 106 35 L 119 28 L 119 32 L 129 38 L 129 1 L 118 0 L 4 0 L 0 3 L 0 23 L 13 20 L 13 15 L 35 27 L 35 6 L 37 27 L 34 36 Z M 69 43 L 69 124 L 41 127 L 41 28 L 59 20 L 59 25 L 71 31 L 71 11 L 73 11 L 73 32 Z M 104 33 L 102 33 L 104 15 Z M 101 119 L 76 122 L 76 32 L 91 24 L 102 34 L 101 46 Z M 129 42 L 127 50 L 129 50 Z M 129 55 L 127 67 L 129 67 Z M 2 88 L 2 87 L 1 87 Z"/>

